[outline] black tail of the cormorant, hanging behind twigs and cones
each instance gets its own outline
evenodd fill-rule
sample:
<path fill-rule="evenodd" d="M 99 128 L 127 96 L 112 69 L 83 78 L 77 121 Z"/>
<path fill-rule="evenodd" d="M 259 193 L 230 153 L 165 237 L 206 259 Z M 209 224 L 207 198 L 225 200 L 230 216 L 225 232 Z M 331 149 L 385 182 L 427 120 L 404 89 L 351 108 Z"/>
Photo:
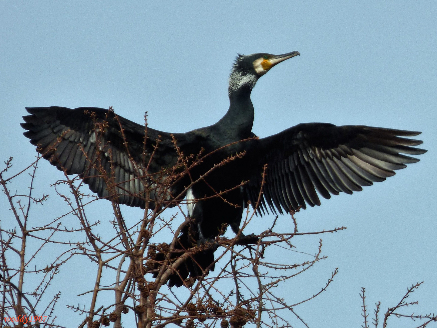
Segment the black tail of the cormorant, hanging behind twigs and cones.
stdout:
<path fill-rule="evenodd" d="M 159 251 L 153 256 L 154 268 L 156 269 L 162 268 L 163 265 L 166 268 L 170 268 L 178 259 L 186 258 L 177 268 L 174 268 L 173 273 L 168 279 L 168 286 L 180 287 L 188 277 L 196 279 L 204 273 L 208 275 L 209 271 L 214 271 L 215 245 L 206 244 L 197 246 L 196 240 L 196 236 L 192 236 L 188 227 L 186 227 L 177 238 L 174 250 L 168 259 L 166 259 L 170 251 L 168 245 L 166 247 L 159 247 Z M 157 275 L 158 273 L 156 272 L 153 276 L 156 278 Z M 189 283 L 187 284 L 189 285 Z"/>

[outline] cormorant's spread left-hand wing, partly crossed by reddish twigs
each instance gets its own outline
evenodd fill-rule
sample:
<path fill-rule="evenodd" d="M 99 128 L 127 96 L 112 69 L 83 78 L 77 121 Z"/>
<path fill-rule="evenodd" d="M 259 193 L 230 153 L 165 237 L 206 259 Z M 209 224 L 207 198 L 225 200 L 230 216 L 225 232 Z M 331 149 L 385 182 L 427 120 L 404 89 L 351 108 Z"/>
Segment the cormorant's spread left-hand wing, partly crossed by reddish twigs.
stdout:
<path fill-rule="evenodd" d="M 144 208 L 144 186 L 150 185 L 145 166 L 156 173 L 177 161 L 170 134 L 147 128 L 145 144 L 145 126 L 111 110 L 55 106 L 26 110 L 31 115 L 23 116 L 21 126 L 31 144 L 58 169 L 82 177 L 99 197 L 108 197 L 112 190 L 120 204 Z M 165 155 L 150 160 L 154 150 Z"/>

